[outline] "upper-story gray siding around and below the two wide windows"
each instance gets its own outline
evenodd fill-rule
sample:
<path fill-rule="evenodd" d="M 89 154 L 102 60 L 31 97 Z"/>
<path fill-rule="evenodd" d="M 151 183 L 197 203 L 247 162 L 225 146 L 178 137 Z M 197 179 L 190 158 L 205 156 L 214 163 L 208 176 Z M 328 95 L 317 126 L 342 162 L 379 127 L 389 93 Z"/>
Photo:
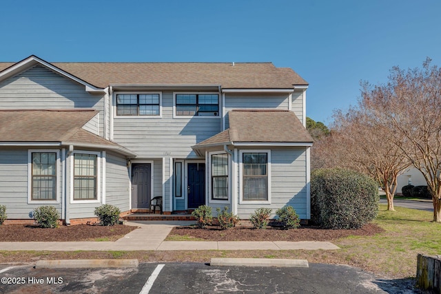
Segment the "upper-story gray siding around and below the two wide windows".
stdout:
<path fill-rule="evenodd" d="M 218 118 L 173 118 L 173 92 L 162 93 L 162 118 L 114 116 L 114 141 L 138 158 L 197 158 L 192 145 L 220 132 Z"/>

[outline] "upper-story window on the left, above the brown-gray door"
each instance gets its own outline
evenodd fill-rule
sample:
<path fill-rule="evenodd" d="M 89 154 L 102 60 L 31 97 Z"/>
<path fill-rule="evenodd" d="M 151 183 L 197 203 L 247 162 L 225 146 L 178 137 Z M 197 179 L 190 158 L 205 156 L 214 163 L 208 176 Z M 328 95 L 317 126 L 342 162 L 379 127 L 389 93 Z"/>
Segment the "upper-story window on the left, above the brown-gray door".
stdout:
<path fill-rule="evenodd" d="M 116 94 L 117 116 L 159 116 L 160 95 Z"/>

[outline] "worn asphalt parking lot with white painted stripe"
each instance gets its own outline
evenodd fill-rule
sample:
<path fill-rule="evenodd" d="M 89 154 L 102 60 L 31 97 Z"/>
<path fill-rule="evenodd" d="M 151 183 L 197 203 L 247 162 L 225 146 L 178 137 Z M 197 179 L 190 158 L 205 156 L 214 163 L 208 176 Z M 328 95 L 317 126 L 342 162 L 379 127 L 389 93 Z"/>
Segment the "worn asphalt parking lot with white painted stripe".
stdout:
<path fill-rule="evenodd" d="M 415 293 L 410 281 L 349 266 L 309 268 L 141 263 L 136 268 L 34 269 L 0 265 L 0 293 Z"/>

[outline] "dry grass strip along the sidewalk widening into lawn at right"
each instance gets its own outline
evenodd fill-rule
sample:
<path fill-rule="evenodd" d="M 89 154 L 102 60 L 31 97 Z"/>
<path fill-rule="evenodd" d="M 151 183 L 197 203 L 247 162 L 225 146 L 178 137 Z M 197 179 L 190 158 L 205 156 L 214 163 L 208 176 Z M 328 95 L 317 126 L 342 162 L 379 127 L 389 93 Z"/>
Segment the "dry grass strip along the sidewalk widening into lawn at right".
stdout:
<path fill-rule="evenodd" d="M 396 207 L 387 211 L 380 204 L 373 222 L 385 231 L 374 236 L 349 236 L 334 240 L 338 250 L 325 251 L 0 251 L 0 263 L 54 259 L 136 258 L 139 262 L 209 262 L 211 258 L 289 258 L 309 263 L 347 264 L 383 277 L 416 275 L 418 253 L 441 252 L 441 224 L 431 222 L 430 211 Z"/>

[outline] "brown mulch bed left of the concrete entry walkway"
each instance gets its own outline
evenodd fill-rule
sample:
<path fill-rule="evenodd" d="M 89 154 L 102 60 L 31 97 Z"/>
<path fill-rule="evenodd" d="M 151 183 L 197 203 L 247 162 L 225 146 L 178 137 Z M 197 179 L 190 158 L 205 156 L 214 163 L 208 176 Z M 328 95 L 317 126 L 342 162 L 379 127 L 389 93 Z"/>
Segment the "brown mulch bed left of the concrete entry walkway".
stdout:
<path fill-rule="evenodd" d="M 61 226 L 57 229 L 43 229 L 32 225 L 3 224 L 0 226 L 1 242 L 72 242 L 72 241 L 115 241 L 137 227 L 116 224 L 111 227 L 78 224 Z"/>

